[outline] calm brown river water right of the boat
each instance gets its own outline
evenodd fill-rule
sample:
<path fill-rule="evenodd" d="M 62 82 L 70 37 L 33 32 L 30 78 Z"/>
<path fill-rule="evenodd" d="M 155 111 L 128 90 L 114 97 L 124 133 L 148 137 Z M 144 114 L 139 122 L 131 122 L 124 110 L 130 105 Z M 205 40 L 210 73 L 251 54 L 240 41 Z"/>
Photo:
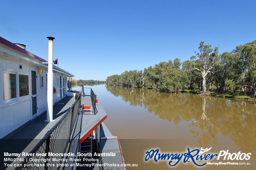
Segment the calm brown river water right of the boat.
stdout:
<path fill-rule="evenodd" d="M 104 123 L 120 139 L 125 163 L 138 164 L 127 170 L 256 169 L 255 102 L 105 85 L 92 88 L 108 114 Z M 193 163 L 192 158 L 186 162 L 183 155 L 175 166 L 168 165 L 171 158 L 145 161 L 146 152 L 152 149 L 178 155 L 201 148 L 211 148 L 202 155 L 223 156 L 219 160 L 217 156 L 208 160 L 194 157 Z M 172 165 L 177 162 L 172 161 Z M 207 162 L 228 165 L 195 165 Z M 250 165 L 235 165 L 242 163 Z"/>

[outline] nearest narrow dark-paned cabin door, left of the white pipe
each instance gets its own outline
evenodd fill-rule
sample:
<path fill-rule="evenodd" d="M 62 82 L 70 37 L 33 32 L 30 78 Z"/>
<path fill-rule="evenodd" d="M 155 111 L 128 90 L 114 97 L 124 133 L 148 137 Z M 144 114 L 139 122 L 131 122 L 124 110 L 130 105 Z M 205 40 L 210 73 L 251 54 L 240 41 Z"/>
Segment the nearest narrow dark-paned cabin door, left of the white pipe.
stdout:
<path fill-rule="evenodd" d="M 36 71 L 31 70 L 31 120 L 37 116 L 37 83 L 36 83 Z"/>

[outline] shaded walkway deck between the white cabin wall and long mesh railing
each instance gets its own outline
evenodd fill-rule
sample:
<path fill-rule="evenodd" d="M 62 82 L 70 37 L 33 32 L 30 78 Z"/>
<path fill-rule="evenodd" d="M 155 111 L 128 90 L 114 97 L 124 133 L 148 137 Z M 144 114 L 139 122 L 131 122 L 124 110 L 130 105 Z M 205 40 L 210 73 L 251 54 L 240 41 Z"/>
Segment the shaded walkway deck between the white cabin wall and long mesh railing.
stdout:
<path fill-rule="evenodd" d="M 67 96 L 55 104 L 53 112 L 54 121 L 46 122 L 45 120 L 47 119 L 47 113 L 44 112 L 33 121 L 29 121 L 5 138 L 1 139 L 0 153 L 29 153 L 32 151 L 39 141 L 45 136 L 45 134 L 63 117 L 67 110 L 73 105 L 74 101 L 74 96 Z M 3 165 L 3 163 L 4 154 L 0 154 L 0 164 Z M 13 167 L 6 167 L 6 170 L 13 169 Z"/>

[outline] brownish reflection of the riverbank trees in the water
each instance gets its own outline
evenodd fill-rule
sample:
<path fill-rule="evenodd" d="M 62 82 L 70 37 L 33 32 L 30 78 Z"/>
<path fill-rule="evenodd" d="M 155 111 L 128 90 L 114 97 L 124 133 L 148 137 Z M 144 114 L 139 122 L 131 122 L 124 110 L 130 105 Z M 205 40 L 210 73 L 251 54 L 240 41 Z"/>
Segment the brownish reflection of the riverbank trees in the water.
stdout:
<path fill-rule="evenodd" d="M 191 122 L 190 133 L 198 138 L 200 147 L 217 145 L 217 135 L 235 142 L 243 152 L 256 157 L 256 104 L 251 101 L 199 96 L 196 94 L 169 94 L 152 90 L 110 87 L 107 90 L 131 106 L 144 107 L 163 120 Z"/>

